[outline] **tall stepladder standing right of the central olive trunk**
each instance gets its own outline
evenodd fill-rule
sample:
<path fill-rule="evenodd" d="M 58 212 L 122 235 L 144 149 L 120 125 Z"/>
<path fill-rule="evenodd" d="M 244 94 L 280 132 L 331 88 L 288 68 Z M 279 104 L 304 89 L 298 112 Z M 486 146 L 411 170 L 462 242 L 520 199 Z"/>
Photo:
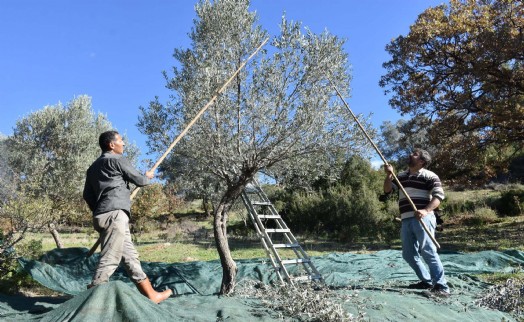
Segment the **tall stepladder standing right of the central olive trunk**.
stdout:
<path fill-rule="evenodd" d="M 287 227 L 256 180 L 242 192 L 242 201 L 281 282 L 322 281 L 322 275 Z M 278 243 L 273 241 L 277 240 Z M 290 274 L 290 266 L 296 270 Z"/>

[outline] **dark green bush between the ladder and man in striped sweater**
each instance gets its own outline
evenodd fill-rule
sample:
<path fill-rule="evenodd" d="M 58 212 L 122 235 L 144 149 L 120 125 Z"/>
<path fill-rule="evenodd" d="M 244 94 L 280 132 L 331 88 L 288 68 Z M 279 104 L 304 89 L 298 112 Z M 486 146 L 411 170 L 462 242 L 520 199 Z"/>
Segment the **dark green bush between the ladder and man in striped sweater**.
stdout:
<path fill-rule="evenodd" d="M 338 182 L 320 185 L 318 190 L 264 189 L 294 232 L 341 242 L 361 237 L 391 240 L 398 237 L 396 226 L 390 224 L 391 213 L 398 214 L 398 206 L 394 200 L 379 201 L 382 182 L 382 172 L 373 170 L 369 161 L 353 156 Z"/>

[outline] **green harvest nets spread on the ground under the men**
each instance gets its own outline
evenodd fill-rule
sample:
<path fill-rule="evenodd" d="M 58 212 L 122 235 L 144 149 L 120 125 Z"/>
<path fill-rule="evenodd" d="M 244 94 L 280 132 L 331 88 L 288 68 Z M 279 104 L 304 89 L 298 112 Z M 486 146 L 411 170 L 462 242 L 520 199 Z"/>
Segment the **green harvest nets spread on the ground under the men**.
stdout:
<path fill-rule="evenodd" d="M 42 285 L 69 299 L 22 298 L 0 295 L 2 321 L 298 321 L 307 316 L 282 316 L 267 301 L 242 295 L 219 296 L 219 261 L 188 263 L 143 262 L 157 290 L 170 288 L 174 296 L 154 304 L 142 296 L 122 268 L 112 281 L 87 290 L 98 254 L 87 259 L 86 248 L 53 250 L 39 261 L 21 259 L 25 270 Z M 400 251 L 371 254 L 333 253 L 312 258 L 330 288 L 333 303 L 369 321 L 516 321 L 509 313 L 479 307 L 476 301 L 489 284 L 482 273 L 513 272 L 524 264 L 520 251 L 443 253 L 452 296 L 435 299 L 407 290 L 416 280 Z M 238 260 L 237 289 L 275 283 L 267 259 Z M 346 301 L 348 296 L 358 301 Z M 338 302 L 337 302 L 338 301 Z"/>

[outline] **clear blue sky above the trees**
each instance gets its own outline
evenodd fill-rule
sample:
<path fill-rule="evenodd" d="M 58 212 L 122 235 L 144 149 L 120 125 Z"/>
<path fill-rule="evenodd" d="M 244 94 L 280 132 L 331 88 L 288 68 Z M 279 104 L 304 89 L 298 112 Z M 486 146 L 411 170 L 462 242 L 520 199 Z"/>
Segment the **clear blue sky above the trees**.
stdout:
<path fill-rule="evenodd" d="M 285 11 L 313 32 L 347 39 L 355 113 L 373 113 L 378 128 L 400 118 L 378 86 L 389 59 L 385 46 L 406 35 L 416 17 L 444 0 L 253 0 L 272 36 Z M 175 64 L 174 48 L 189 46 L 195 18 L 190 0 L 0 0 L 0 133 L 17 119 L 78 95 L 134 141 L 143 156 L 146 137 L 139 106 L 168 99 L 162 71 Z M 255 58 L 256 59 L 256 58 Z"/>

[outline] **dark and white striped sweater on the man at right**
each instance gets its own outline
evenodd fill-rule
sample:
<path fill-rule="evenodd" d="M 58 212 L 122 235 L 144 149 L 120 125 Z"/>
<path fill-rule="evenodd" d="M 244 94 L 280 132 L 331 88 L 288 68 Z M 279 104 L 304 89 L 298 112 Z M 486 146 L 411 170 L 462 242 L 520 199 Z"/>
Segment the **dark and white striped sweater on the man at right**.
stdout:
<path fill-rule="evenodd" d="M 417 209 L 426 207 L 433 198 L 438 198 L 440 201 L 444 200 L 442 183 L 434 172 L 422 168 L 415 174 L 409 174 L 409 170 L 406 170 L 399 173 L 397 178 L 415 206 L 417 206 Z M 393 187 L 398 189 L 395 182 L 393 182 Z M 402 190 L 399 191 L 398 205 L 402 219 L 414 216 L 413 207 Z"/>

